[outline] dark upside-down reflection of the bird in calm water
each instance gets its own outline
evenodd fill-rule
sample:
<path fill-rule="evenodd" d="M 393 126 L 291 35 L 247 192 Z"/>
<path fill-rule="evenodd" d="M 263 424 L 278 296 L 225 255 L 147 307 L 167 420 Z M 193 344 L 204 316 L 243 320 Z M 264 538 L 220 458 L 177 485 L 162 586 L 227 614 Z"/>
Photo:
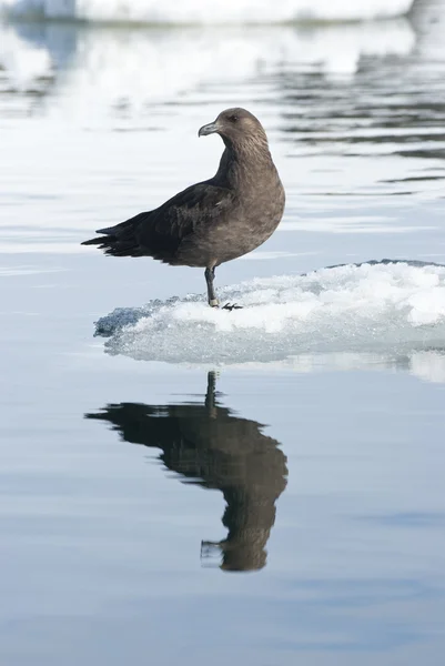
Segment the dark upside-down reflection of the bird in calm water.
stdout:
<path fill-rule="evenodd" d="M 125 442 L 161 448 L 164 465 L 191 483 L 222 491 L 226 538 L 202 542 L 201 556 L 222 554 L 221 568 L 244 572 L 266 564 L 275 502 L 286 486 L 286 457 L 256 421 L 240 418 L 218 401 L 208 376 L 204 404 L 109 404 L 85 418 L 108 421 Z"/>

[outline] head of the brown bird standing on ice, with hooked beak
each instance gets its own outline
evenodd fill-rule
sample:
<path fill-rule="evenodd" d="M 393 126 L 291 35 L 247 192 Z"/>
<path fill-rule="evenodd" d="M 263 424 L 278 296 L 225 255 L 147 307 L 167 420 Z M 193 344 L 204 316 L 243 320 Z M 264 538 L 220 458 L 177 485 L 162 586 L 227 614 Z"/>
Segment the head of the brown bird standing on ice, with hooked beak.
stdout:
<path fill-rule="evenodd" d="M 252 139 L 267 143 L 261 122 L 253 113 L 241 108 L 221 111 L 214 122 L 203 125 L 198 132 L 199 137 L 208 134 L 220 134 L 226 144 L 239 144 Z"/>

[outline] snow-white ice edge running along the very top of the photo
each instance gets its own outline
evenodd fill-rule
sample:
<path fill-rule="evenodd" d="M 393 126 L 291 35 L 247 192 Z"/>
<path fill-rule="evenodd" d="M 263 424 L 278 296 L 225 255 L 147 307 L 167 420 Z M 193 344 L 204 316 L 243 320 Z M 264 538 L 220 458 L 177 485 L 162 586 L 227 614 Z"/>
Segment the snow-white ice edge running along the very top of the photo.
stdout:
<path fill-rule="evenodd" d="M 0 0 L 14 17 L 107 22 L 357 21 L 405 14 L 413 0 Z"/>

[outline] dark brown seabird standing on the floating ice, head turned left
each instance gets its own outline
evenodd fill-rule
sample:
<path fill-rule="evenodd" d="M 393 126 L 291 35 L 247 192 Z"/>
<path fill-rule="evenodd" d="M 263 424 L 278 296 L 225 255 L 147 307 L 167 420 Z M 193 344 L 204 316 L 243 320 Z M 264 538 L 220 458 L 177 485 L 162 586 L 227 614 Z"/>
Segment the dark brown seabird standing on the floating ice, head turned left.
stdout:
<path fill-rule="evenodd" d="M 152 256 L 171 265 L 205 268 L 209 304 L 218 307 L 215 268 L 252 252 L 272 235 L 283 216 L 285 194 L 265 131 L 252 113 L 222 111 L 199 137 L 214 133 L 225 150 L 213 178 L 158 209 L 99 229 L 103 235 L 82 245 L 99 245 L 113 256 Z"/>

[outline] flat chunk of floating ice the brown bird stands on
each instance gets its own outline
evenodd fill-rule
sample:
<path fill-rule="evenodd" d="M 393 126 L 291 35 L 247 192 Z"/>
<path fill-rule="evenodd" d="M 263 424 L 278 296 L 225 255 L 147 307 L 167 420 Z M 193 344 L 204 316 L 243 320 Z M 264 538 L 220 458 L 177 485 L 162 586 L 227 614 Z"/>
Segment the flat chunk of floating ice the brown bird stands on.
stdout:
<path fill-rule="evenodd" d="M 97 323 L 111 354 L 192 364 L 264 363 L 307 353 L 405 352 L 445 343 L 445 266 L 366 263 L 257 279 L 203 295 L 118 309 Z"/>

